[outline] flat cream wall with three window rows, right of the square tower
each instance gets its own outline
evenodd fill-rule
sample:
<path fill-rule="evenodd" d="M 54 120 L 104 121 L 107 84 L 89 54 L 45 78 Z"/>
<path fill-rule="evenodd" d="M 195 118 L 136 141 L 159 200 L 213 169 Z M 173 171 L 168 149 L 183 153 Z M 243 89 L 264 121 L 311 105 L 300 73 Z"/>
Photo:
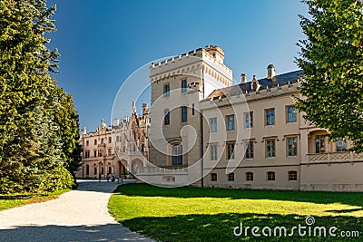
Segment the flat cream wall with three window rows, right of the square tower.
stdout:
<path fill-rule="evenodd" d="M 204 132 L 204 140 L 206 140 L 204 148 L 206 153 L 204 156 L 204 172 L 217 172 L 219 180 L 211 182 L 210 175 L 205 178 L 206 186 L 218 186 L 229 188 L 235 186 L 239 188 L 250 189 L 299 189 L 299 116 L 297 121 L 288 123 L 286 118 L 286 107 L 293 105 L 291 101 L 291 93 L 296 92 L 295 86 L 282 86 L 280 89 L 274 88 L 269 92 L 266 90 L 260 93 L 250 93 L 243 97 L 223 98 L 221 101 L 203 101 L 201 109 L 206 119 L 217 117 L 217 132 Z M 248 105 L 246 105 L 246 102 Z M 232 103 L 232 105 L 231 105 Z M 217 105 L 219 109 L 214 106 Z M 232 108 L 233 107 L 233 108 Z M 265 125 L 265 110 L 275 108 L 275 125 Z M 253 128 L 244 128 L 244 113 L 253 111 Z M 235 115 L 234 131 L 226 131 L 226 116 Z M 205 124 L 205 129 L 209 125 Z M 287 155 L 287 137 L 298 138 L 298 155 L 288 157 Z M 267 138 L 275 139 L 276 157 L 266 158 L 265 140 Z M 207 141 L 208 140 L 208 141 Z M 254 140 L 254 158 L 246 160 L 243 157 L 245 141 Z M 227 160 L 227 149 L 225 141 L 235 141 L 235 159 Z M 221 160 L 217 163 L 212 161 L 210 155 L 210 145 L 218 144 L 218 155 L 221 155 Z M 212 169 L 215 167 L 216 169 Z M 229 173 L 235 167 L 236 181 L 228 181 Z M 288 180 L 288 171 L 298 171 L 298 181 Z M 254 172 L 254 181 L 245 181 L 245 172 Z M 275 171 L 276 180 L 267 181 L 266 172 Z M 221 180 L 220 180 L 221 177 Z M 232 184 L 232 185 L 231 185 Z M 234 185 L 233 185 L 234 184 Z"/>

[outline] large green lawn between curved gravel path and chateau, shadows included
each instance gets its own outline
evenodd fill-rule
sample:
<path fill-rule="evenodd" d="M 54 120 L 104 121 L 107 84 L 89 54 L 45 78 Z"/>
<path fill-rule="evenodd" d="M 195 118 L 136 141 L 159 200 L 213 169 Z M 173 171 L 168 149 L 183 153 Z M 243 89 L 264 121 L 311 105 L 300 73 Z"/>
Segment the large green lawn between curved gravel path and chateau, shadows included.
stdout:
<path fill-rule="evenodd" d="M 120 186 L 109 210 L 125 227 L 159 241 L 361 241 L 363 193 L 241 189 L 162 189 L 146 184 Z M 338 227 L 358 231 L 359 238 L 235 237 L 233 227 Z"/>

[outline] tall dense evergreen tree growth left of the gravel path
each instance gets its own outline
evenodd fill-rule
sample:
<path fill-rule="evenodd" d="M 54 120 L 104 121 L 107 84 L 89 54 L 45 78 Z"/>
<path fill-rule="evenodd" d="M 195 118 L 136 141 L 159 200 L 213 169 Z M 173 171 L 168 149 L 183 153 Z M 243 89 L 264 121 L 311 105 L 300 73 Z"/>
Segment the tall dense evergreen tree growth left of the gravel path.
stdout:
<path fill-rule="evenodd" d="M 55 11 L 45 2 L 0 0 L 0 193 L 74 186 L 78 116 L 49 74 L 58 52 L 45 45 Z"/>

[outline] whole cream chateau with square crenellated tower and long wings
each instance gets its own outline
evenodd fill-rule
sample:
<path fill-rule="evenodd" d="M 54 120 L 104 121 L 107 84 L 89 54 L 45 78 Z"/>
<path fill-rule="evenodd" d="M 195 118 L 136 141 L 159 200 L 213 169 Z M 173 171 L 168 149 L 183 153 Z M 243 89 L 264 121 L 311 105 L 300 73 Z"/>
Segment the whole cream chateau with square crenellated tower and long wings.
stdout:
<path fill-rule="evenodd" d="M 151 122 L 102 125 L 82 141 L 124 133 L 120 144 L 112 141 L 122 163 L 138 179 L 160 186 L 363 191 L 363 154 L 348 151 L 350 140 L 329 142 L 327 130 L 309 125 L 296 110 L 292 97 L 299 96 L 301 71 L 277 74 L 270 64 L 266 78 L 248 82 L 241 74 L 240 84 L 232 85 L 223 60 L 221 48 L 208 45 L 152 63 L 151 110 L 133 118 L 150 115 Z M 133 129 L 149 139 L 132 138 Z M 132 139 L 148 150 L 137 159 L 117 149 Z M 85 147 L 84 161 L 90 159 Z M 107 149 L 104 144 L 102 152 Z M 89 150 L 95 157 L 97 149 Z M 90 167 L 119 170 L 120 159 L 101 160 Z"/>

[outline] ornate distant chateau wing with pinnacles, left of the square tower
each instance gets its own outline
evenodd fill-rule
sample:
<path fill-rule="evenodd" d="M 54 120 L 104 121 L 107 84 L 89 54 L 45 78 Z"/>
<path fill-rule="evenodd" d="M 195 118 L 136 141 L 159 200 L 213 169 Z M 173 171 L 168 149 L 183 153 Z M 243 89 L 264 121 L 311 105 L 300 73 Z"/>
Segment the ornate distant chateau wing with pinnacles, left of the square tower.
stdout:
<path fill-rule="evenodd" d="M 139 115 L 132 103 L 131 117 L 120 122 L 114 120 L 108 126 L 102 121 L 94 132 L 83 128 L 80 143 L 83 147 L 82 165 L 76 172 L 77 178 L 105 178 L 108 173 L 117 177 L 132 176 L 132 170 L 144 167 L 149 159 L 150 110 L 142 104 Z"/>

